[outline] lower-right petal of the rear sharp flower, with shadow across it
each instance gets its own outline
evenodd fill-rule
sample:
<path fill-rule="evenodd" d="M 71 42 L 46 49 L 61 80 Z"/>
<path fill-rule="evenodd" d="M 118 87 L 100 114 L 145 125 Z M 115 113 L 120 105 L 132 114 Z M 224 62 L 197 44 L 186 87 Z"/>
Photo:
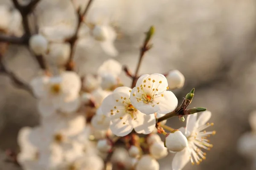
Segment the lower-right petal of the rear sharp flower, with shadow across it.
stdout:
<path fill-rule="evenodd" d="M 137 111 L 137 119 L 132 120 L 134 125 L 134 130 L 137 133 L 149 134 L 154 130 L 156 125 L 156 119 L 154 114 L 146 115 Z"/>

